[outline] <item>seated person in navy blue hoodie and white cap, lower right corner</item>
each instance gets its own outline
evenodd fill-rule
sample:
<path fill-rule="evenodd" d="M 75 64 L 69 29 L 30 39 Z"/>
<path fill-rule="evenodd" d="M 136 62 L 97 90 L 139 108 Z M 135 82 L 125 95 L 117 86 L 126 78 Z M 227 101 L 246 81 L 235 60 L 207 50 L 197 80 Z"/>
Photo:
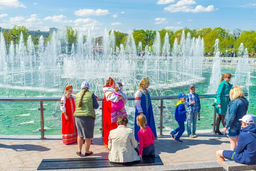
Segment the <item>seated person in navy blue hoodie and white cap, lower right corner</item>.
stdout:
<path fill-rule="evenodd" d="M 234 151 L 218 150 L 216 152 L 220 165 L 225 161 L 224 158 L 234 160 L 236 163 L 256 165 L 256 126 L 253 125 L 253 117 L 244 115 L 239 121 L 242 121 L 243 128 L 240 130 L 238 143 Z"/>

